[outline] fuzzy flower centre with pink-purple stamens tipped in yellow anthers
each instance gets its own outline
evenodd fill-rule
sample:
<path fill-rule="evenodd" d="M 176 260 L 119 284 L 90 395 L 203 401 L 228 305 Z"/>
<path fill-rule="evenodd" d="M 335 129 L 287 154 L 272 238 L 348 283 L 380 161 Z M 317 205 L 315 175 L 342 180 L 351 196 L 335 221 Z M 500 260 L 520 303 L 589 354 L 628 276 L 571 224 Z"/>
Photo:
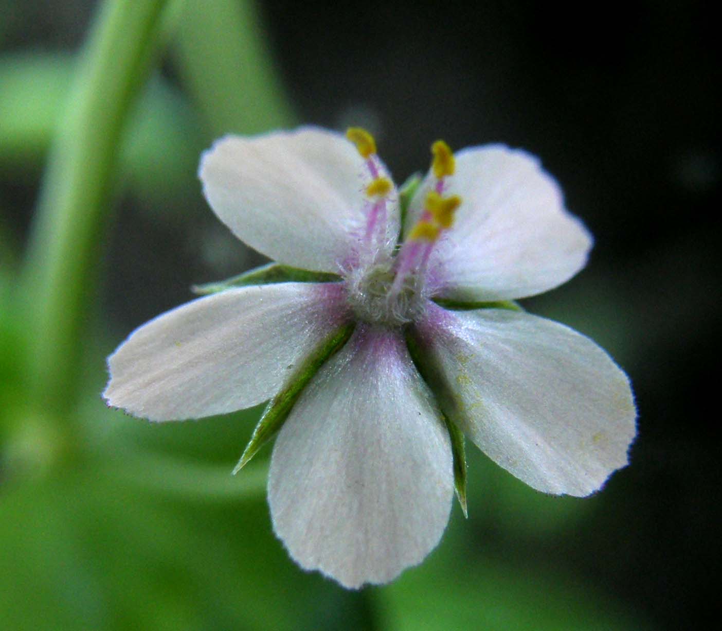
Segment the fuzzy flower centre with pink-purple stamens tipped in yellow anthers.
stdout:
<path fill-rule="evenodd" d="M 426 193 L 417 223 L 391 252 L 387 243 L 387 206 L 395 191 L 393 182 L 381 174 L 373 136 L 358 127 L 352 127 L 346 135 L 366 160 L 371 176 L 365 188 L 366 225 L 360 252 L 354 264 L 344 270 L 349 305 L 362 322 L 400 327 L 425 310 L 425 275 L 432 249 L 441 233 L 451 228 L 461 204 L 458 195 L 443 196 L 446 179 L 455 170 L 453 153 L 441 140 L 432 145 L 432 187 Z"/>

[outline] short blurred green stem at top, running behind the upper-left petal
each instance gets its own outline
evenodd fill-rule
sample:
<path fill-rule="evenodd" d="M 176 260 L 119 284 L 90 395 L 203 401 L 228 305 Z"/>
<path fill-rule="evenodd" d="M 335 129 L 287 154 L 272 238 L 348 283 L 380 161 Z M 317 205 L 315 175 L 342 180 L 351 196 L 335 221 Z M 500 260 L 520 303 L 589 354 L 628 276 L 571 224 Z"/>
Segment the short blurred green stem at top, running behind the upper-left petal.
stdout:
<path fill-rule="evenodd" d="M 294 124 L 255 2 L 188 0 L 174 52 L 210 137 Z"/>

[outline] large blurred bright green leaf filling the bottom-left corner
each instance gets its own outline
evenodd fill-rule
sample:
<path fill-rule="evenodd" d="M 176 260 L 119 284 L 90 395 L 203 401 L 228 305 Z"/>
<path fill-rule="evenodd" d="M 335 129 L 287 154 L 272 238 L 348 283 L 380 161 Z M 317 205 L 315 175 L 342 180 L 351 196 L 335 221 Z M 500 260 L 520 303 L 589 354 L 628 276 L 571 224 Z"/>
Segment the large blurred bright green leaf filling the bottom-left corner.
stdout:
<path fill-rule="evenodd" d="M 310 630 L 343 628 L 333 623 L 344 609 L 363 619 L 353 594 L 298 580 L 262 497 L 188 504 L 118 473 L 93 463 L 5 489 L 4 628 Z"/>

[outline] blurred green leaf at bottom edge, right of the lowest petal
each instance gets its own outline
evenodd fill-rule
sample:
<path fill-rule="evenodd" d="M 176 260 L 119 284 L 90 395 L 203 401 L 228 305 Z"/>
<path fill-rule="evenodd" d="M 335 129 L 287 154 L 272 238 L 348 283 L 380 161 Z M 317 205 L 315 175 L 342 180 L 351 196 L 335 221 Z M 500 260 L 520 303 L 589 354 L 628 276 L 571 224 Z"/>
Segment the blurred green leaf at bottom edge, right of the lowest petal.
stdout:
<path fill-rule="evenodd" d="M 634 611 L 560 567 L 500 562 L 446 536 L 419 569 L 375 590 L 391 631 L 641 631 Z M 451 539 L 451 541 L 449 541 Z"/>

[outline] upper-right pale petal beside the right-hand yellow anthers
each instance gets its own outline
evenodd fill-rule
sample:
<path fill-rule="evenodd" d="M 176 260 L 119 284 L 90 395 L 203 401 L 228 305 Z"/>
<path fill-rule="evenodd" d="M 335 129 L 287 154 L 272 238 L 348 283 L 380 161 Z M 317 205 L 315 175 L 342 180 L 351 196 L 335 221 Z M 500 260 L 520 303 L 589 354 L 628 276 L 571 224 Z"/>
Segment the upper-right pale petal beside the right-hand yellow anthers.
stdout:
<path fill-rule="evenodd" d="M 412 202 L 420 216 L 429 184 Z M 534 296 L 565 283 L 586 264 L 592 239 L 567 213 L 539 160 L 501 145 L 456 155 L 445 194 L 462 198 L 451 230 L 430 261 L 440 298 L 495 301 Z"/>

